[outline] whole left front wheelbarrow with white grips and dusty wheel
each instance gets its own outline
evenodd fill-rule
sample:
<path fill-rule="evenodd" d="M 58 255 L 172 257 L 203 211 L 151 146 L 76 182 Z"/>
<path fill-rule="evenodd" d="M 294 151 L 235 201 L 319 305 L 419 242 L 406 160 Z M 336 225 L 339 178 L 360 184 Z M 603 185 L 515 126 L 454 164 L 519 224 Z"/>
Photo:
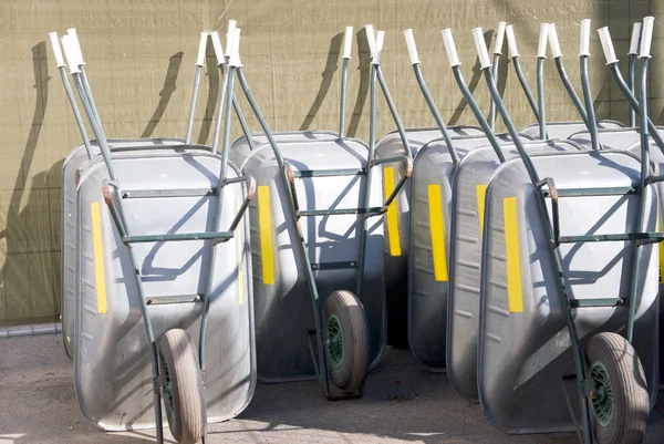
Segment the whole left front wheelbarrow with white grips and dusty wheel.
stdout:
<path fill-rule="evenodd" d="M 205 440 L 208 421 L 237 415 L 256 385 L 249 226 L 242 217 L 255 182 L 216 154 L 217 137 L 211 148 L 179 145 L 170 153 L 127 151 L 112 158 L 81 76 L 77 44 L 69 35 L 62 40 L 102 154 L 76 188 L 76 397 L 105 430 L 156 425 L 162 443 L 164 410 L 177 442 Z M 225 148 L 229 131 L 227 106 Z M 147 233 L 134 235 L 136 227 Z M 175 254 L 172 241 L 178 241 Z M 206 345 L 208 329 L 214 338 Z M 206 363 L 214 365 L 207 370 Z M 141 390 L 146 383 L 152 393 Z"/>

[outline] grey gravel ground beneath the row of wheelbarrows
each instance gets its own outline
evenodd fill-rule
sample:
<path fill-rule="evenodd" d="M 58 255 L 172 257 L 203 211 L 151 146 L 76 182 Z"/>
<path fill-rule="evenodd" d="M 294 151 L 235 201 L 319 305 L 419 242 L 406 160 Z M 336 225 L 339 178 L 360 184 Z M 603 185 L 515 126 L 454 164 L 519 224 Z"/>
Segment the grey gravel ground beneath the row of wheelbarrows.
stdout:
<path fill-rule="evenodd" d="M 104 433 L 83 416 L 61 340 L 0 342 L 0 444 L 155 442 L 154 431 Z M 259 384 L 239 417 L 210 426 L 208 442 L 572 444 L 579 440 L 573 433 L 504 434 L 486 421 L 478 404 L 454 393 L 445 374 L 418 366 L 407 351 L 388 349 L 361 400 L 329 402 L 315 382 Z M 664 443 L 662 395 L 645 441 L 654 443 Z"/>

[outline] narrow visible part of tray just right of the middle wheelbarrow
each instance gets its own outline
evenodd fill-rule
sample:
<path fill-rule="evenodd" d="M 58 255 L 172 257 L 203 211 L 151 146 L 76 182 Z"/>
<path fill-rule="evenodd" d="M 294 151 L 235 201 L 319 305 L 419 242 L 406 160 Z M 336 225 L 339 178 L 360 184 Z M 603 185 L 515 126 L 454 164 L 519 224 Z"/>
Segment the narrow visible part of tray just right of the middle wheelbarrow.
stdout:
<path fill-rule="evenodd" d="M 452 138 L 464 136 L 484 136 L 479 126 L 450 126 L 447 128 Z M 412 127 L 405 128 L 411 155 L 415 157 L 417 152 L 433 140 L 440 138 L 438 127 Z M 404 144 L 398 131 L 385 134 L 376 143 L 376 158 L 390 158 L 404 154 Z M 383 196 L 387 198 L 405 174 L 402 163 L 383 166 Z M 388 331 L 394 332 L 398 343 L 407 341 L 407 245 L 409 233 L 408 220 L 408 196 L 411 184 L 404 184 L 401 192 L 390 205 L 385 215 L 385 279 L 387 285 L 387 324 Z M 393 334 L 391 333 L 391 337 Z M 403 339 L 402 339 L 403 338 Z M 403 344 L 405 347 L 405 343 Z"/>

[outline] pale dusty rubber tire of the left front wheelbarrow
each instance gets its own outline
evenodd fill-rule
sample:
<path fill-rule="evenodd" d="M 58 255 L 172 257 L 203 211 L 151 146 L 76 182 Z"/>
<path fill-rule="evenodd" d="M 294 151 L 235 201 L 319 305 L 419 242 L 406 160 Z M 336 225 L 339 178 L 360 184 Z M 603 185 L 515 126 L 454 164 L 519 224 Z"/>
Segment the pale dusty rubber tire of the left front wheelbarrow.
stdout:
<path fill-rule="evenodd" d="M 170 433 L 179 444 L 196 444 L 205 428 L 203 381 L 198 353 L 189 333 L 180 329 L 168 330 L 159 341 L 159 374 L 164 382 L 164 363 L 168 365 L 173 394 L 173 412 L 164 393 L 166 419 Z"/>

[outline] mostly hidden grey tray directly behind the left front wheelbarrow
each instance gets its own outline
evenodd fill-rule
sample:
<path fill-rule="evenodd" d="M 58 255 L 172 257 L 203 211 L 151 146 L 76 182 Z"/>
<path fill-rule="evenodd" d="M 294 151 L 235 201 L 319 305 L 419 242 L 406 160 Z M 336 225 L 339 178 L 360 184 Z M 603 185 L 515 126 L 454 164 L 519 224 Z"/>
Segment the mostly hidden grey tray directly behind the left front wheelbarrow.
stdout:
<path fill-rule="evenodd" d="M 154 137 L 154 138 L 116 138 L 110 140 L 108 147 L 112 153 L 120 153 L 136 149 L 159 149 L 172 146 L 183 145 L 183 138 Z M 93 156 L 100 154 L 97 141 L 90 141 Z M 94 157 L 93 157 L 94 159 Z M 61 188 L 61 236 L 62 236 L 62 301 L 60 306 L 60 317 L 62 320 L 62 335 L 64 338 L 64 351 L 68 357 L 73 358 L 74 341 L 74 289 L 75 289 L 75 260 L 77 257 L 75 247 L 76 238 L 76 185 L 83 169 L 90 165 L 85 145 L 81 144 L 70 152 L 62 165 L 62 188 Z"/>

